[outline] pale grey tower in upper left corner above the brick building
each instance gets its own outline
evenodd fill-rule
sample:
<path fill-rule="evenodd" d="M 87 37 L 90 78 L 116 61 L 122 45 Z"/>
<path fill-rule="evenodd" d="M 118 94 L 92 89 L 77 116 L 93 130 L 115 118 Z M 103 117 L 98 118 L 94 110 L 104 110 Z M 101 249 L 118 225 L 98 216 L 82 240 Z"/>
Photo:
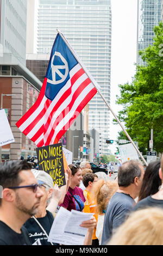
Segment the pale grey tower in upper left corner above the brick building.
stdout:
<path fill-rule="evenodd" d="M 1 54 L 11 53 L 26 66 L 27 0 L 0 0 Z"/>

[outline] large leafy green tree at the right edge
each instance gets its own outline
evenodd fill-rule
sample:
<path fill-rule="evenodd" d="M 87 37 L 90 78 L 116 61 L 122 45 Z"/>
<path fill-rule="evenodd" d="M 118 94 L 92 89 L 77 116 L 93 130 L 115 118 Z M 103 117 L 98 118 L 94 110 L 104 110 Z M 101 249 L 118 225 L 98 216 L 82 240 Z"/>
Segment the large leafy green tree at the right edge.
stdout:
<path fill-rule="evenodd" d="M 148 148 L 153 127 L 154 150 L 163 151 L 163 24 L 154 27 L 153 46 L 139 52 L 146 65 L 136 65 L 131 84 L 120 84 L 117 104 L 123 106 L 118 118 L 124 122 L 140 149 Z M 149 148 L 148 148 L 149 149 Z"/>

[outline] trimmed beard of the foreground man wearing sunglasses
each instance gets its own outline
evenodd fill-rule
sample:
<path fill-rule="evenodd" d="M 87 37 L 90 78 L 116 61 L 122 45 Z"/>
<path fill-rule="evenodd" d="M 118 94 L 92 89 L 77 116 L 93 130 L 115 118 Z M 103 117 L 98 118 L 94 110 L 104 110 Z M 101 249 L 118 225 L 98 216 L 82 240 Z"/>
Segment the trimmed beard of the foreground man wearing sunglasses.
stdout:
<path fill-rule="evenodd" d="M 28 209 L 26 205 L 23 204 L 20 196 L 18 196 L 18 193 L 16 193 L 16 207 L 18 210 L 24 212 L 24 214 L 28 214 L 29 216 L 32 216 L 37 213 L 39 205 L 37 206 L 33 205 L 32 208 Z"/>

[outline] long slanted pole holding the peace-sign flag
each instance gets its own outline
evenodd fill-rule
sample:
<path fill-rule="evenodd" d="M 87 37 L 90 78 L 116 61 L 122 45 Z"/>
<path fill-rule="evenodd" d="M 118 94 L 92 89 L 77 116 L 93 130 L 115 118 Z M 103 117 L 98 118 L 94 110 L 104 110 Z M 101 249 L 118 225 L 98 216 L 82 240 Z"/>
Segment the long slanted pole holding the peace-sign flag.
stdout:
<path fill-rule="evenodd" d="M 114 111 L 112 111 L 111 107 L 109 106 L 108 102 L 105 100 L 104 96 L 101 94 L 100 90 L 99 90 L 99 86 L 97 84 L 97 82 L 94 80 L 94 78 L 91 76 L 90 72 L 85 68 L 85 66 L 82 64 L 81 60 L 79 59 L 79 57 L 77 56 L 76 52 L 74 52 L 73 48 L 71 47 L 70 43 L 67 41 L 67 39 L 65 38 L 65 36 L 57 29 L 57 32 L 59 33 L 59 35 L 61 36 L 61 38 L 64 40 L 65 44 L 67 45 L 67 47 L 70 49 L 70 51 L 72 52 L 73 56 L 77 59 L 78 63 L 82 66 L 83 70 L 85 71 L 86 75 L 90 78 L 91 82 L 93 83 L 93 85 L 95 86 L 95 88 L 97 89 L 97 92 L 99 93 L 99 95 L 102 97 L 103 101 L 105 102 L 106 106 L 108 106 L 108 108 L 110 109 L 111 113 L 114 115 L 115 119 L 117 120 L 118 124 L 120 124 L 122 130 L 124 131 L 124 133 L 126 134 L 126 136 L 128 137 L 129 141 L 131 142 L 131 144 L 133 144 L 134 148 L 136 149 L 137 153 L 140 155 L 141 159 L 143 160 L 143 162 L 146 164 L 146 166 L 148 165 L 146 160 L 144 159 L 144 157 L 142 156 L 142 154 L 140 153 L 139 149 L 136 147 L 135 143 L 133 142 L 133 140 L 131 139 L 131 137 L 129 136 L 128 132 L 126 131 L 126 129 L 124 128 L 124 126 L 121 124 L 120 120 L 117 118 L 116 114 L 114 113 Z"/>

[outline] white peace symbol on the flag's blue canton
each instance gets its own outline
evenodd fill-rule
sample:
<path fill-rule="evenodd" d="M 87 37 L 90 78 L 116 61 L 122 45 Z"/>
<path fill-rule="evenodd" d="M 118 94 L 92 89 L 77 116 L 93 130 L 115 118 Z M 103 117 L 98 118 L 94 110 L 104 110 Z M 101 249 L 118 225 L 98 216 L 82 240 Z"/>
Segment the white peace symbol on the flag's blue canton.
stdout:
<path fill-rule="evenodd" d="M 60 57 L 60 59 L 62 60 L 62 62 L 64 63 L 64 65 L 53 65 L 53 60 L 54 57 L 58 56 Z M 53 57 L 52 57 L 52 61 L 51 61 L 51 68 L 52 68 L 52 79 L 47 79 L 48 83 L 52 83 L 52 84 L 59 84 L 65 81 L 67 75 L 68 75 L 68 63 L 66 61 L 66 59 L 61 55 L 60 52 L 55 52 Z M 63 75 L 59 69 L 65 69 L 65 75 Z M 55 73 L 58 74 L 58 76 L 61 78 L 60 80 L 56 81 L 55 80 Z"/>

